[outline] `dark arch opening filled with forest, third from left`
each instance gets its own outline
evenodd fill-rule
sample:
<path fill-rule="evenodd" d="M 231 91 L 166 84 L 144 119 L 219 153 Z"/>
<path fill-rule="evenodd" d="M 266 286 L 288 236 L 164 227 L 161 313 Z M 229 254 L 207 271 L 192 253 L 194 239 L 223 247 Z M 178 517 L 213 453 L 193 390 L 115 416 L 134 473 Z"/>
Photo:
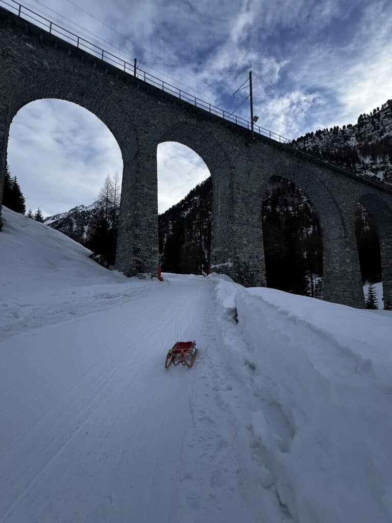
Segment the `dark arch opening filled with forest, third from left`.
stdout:
<path fill-rule="evenodd" d="M 267 287 L 322 299 L 322 233 L 317 212 L 304 191 L 272 176 L 262 203 Z"/>

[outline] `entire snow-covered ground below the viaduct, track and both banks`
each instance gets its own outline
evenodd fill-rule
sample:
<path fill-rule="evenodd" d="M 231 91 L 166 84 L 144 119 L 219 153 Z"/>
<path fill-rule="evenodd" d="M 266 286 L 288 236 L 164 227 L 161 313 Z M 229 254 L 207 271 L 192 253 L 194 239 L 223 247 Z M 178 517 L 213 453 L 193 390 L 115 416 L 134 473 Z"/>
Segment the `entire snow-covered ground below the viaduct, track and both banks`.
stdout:
<path fill-rule="evenodd" d="M 388 311 L 127 279 L 3 218 L 0 523 L 392 520 Z"/>

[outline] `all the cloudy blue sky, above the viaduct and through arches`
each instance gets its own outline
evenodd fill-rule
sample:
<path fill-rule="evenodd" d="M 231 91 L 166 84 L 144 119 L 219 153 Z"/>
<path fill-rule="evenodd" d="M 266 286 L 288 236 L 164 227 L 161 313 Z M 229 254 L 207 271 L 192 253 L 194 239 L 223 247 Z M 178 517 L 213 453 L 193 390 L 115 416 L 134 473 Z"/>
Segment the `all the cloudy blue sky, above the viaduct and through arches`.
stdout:
<path fill-rule="evenodd" d="M 287 138 L 355 123 L 392 94 L 390 0 L 28 0 L 75 33 L 181 89 L 234 110 L 252 70 L 260 126 Z M 167 64 L 200 69 L 167 67 Z M 211 71 L 226 69 L 234 72 Z M 249 119 L 248 100 L 236 114 Z M 8 163 L 27 207 L 45 215 L 90 204 L 107 174 L 121 175 L 110 131 L 59 100 L 23 107 L 11 124 Z M 187 147 L 158 147 L 158 210 L 209 176 Z"/>

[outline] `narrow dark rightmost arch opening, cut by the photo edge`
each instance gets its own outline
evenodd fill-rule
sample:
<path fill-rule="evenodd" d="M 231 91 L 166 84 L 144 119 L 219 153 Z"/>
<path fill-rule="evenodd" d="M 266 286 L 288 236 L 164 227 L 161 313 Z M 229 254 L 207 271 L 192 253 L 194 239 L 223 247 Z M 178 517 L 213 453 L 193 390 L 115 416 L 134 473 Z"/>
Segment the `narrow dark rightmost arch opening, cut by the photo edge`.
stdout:
<path fill-rule="evenodd" d="M 392 308 L 392 209 L 374 195 L 360 197 L 355 207 L 355 237 L 366 305 L 371 305 L 372 284 L 377 308 Z"/>

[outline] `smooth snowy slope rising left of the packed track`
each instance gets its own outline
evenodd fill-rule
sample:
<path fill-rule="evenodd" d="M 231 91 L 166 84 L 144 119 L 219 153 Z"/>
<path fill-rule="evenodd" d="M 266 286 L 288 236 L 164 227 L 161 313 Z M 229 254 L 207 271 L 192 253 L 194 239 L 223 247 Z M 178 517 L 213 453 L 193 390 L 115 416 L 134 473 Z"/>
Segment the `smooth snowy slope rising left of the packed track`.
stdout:
<path fill-rule="evenodd" d="M 0 232 L 0 339 L 117 304 L 157 280 L 126 278 L 89 258 L 59 231 L 3 207 Z"/>

